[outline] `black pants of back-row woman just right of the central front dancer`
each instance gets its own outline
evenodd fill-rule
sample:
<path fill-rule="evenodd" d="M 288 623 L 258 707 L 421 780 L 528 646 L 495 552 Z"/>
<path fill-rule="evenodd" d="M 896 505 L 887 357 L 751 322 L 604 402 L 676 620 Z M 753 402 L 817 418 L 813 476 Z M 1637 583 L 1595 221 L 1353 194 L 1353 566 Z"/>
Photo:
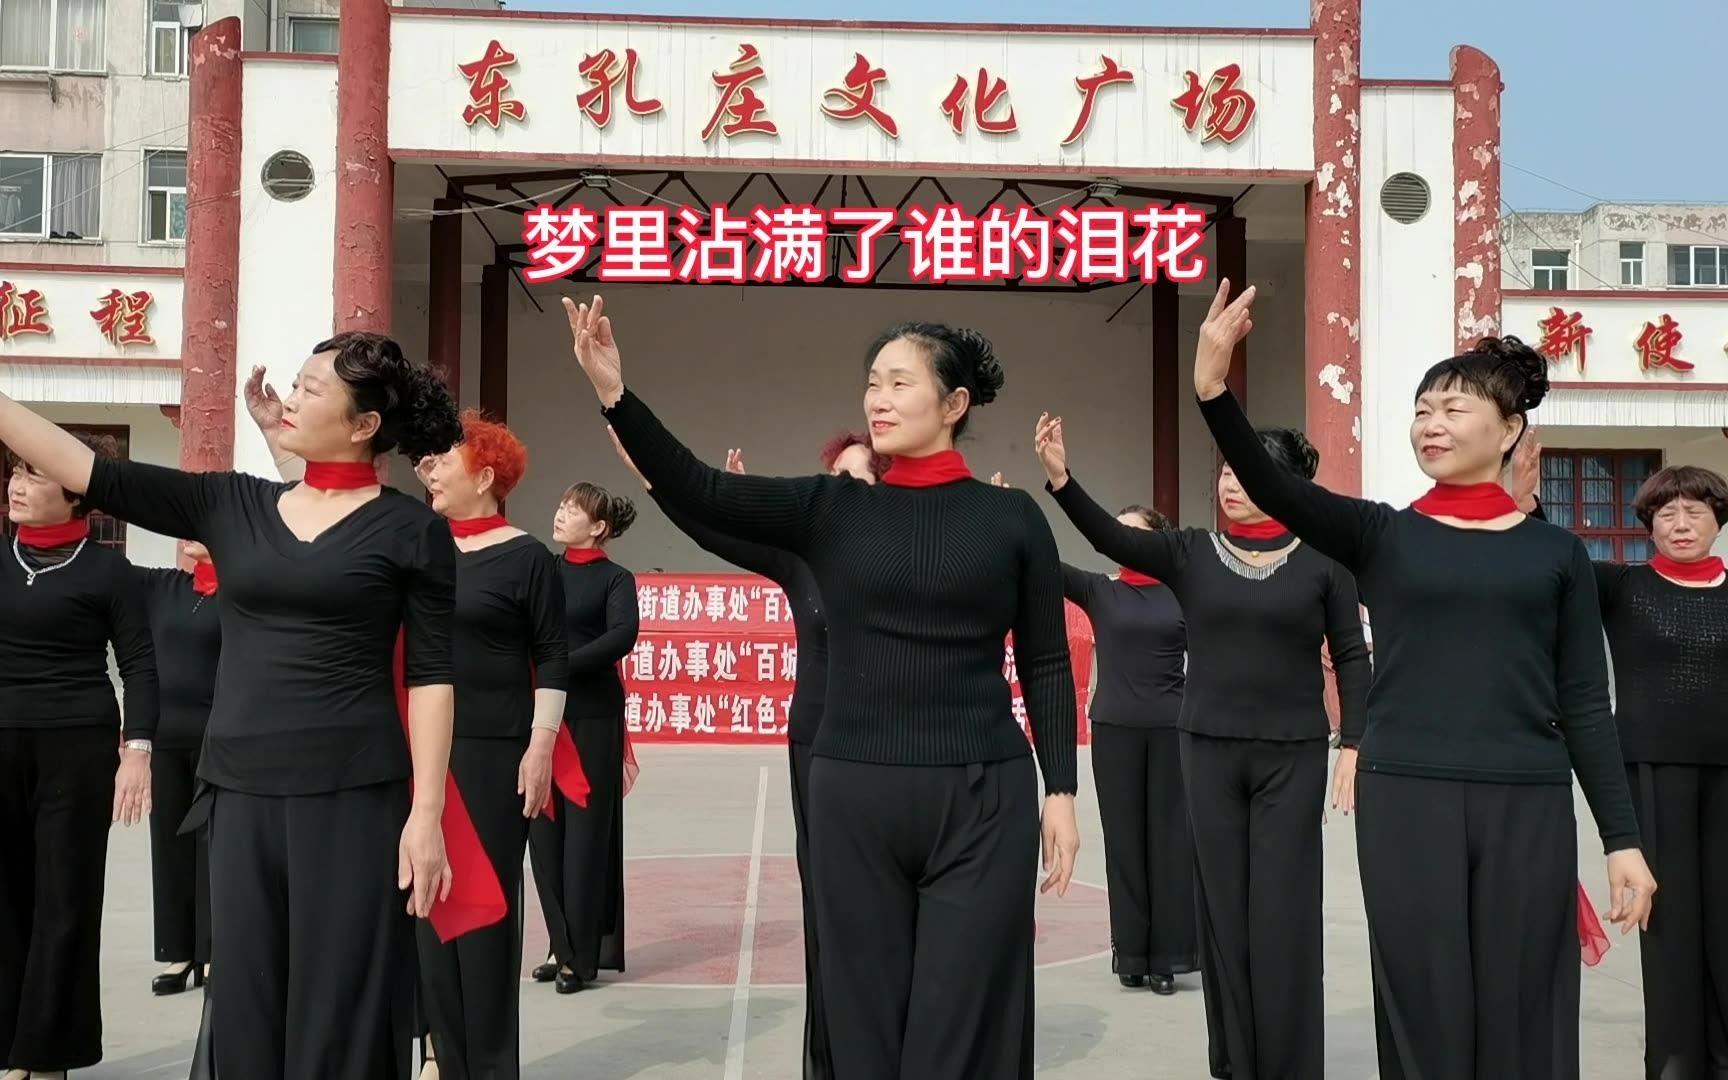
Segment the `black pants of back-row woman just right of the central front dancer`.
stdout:
<path fill-rule="evenodd" d="M 1096 724 L 1092 778 L 1104 826 L 1111 968 L 1116 975 L 1199 969 L 1180 733 Z"/>

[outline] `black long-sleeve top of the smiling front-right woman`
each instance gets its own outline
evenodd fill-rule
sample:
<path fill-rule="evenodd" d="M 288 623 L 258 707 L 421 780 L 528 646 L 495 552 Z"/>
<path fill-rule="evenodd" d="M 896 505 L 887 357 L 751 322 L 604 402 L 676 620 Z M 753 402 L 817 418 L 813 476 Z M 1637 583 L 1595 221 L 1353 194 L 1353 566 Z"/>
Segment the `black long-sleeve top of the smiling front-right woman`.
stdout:
<path fill-rule="evenodd" d="M 1334 494 L 1279 468 L 1229 391 L 1199 408 L 1248 498 L 1356 575 L 1375 651 L 1356 767 L 1541 785 L 1576 771 L 1605 848 L 1638 847 L 1583 541 Z"/>

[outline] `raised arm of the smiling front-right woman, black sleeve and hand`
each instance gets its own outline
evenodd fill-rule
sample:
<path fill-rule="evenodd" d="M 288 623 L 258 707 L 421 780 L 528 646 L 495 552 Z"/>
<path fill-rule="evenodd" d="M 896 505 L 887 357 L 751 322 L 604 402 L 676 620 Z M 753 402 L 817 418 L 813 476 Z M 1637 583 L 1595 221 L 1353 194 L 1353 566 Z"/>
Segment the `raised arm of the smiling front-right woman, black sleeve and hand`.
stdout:
<path fill-rule="evenodd" d="M 1218 285 L 1211 311 L 1199 330 L 1194 359 L 1194 392 L 1199 411 L 1211 429 L 1218 453 L 1230 463 L 1242 491 L 1260 510 L 1344 569 L 1360 572 L 1374 544 L 1391 525 L 1393 508 L 1384 503 L 1341 496 L 1313 480 L 1305 480 L 1279 467 L 1260 442 L 1236 396 L 1225 387 L 1230 353 L 1248 335 L 1249 306 L 1255 289 L 1225 306 L 1230 283 Z"/>

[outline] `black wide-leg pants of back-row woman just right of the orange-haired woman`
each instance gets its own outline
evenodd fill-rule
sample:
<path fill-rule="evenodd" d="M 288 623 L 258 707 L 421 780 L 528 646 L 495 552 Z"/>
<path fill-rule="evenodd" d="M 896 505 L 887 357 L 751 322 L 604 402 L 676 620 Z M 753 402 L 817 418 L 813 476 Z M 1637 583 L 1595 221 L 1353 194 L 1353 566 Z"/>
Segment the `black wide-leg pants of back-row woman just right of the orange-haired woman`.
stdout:
<path fill-rule="evenodd" d="M 555 790 L 558 816 L 529 826 L 529 857 L 553 956 L 593 982 L 624 971 L 624 717 L 565 724 L 588 774 L 588 809 Z"/>

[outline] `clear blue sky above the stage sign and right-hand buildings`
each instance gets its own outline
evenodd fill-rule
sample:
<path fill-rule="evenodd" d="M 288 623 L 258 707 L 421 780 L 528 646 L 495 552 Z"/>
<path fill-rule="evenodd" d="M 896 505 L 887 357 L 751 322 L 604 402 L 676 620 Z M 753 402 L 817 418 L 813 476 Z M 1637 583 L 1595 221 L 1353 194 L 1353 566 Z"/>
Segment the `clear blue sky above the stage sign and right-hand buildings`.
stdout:
<path fill-rule="evenodd" d="M 506 0 L 655 16 L 1306 26 L 1306 0 Z M 1505 79 L 1503 190 L 1517 211 L 1728 202 L 1728 0 L 1363 0 L 1362 73 L 1445 78 L 1453 45 Z"/>

